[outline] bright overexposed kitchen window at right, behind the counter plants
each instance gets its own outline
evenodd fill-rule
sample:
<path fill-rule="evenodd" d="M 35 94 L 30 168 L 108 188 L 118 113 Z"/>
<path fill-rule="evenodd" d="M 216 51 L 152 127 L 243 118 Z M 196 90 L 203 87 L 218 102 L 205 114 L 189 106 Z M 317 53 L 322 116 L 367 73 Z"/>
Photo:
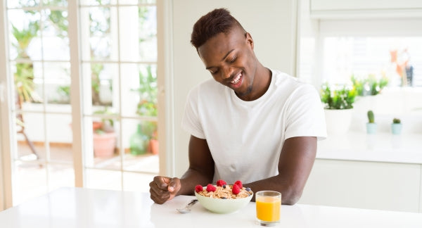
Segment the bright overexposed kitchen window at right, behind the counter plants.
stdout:
<path fill-rule="evenodd" d="M 422 37 L 324 37 L 324 80 L 385 77 L 391 87 L 422 86 Z"/>

